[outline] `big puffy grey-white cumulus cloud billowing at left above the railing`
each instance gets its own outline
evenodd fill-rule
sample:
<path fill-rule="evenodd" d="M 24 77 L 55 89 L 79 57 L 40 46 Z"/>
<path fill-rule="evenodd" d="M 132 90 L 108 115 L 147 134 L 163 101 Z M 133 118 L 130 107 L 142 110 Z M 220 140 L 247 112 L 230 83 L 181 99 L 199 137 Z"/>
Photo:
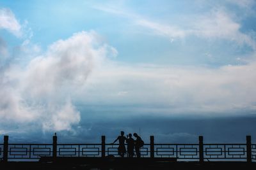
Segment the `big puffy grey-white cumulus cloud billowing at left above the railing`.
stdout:
<path fill-rule="evenodd" d="M 95 32 L 83 31 L 56 41 L 25 66 L 11 64 L 1 73 L 1 122 L 38 122 L 45 131 L 70 131 L 80 120 L 71 94 L 111 51 Z"/>

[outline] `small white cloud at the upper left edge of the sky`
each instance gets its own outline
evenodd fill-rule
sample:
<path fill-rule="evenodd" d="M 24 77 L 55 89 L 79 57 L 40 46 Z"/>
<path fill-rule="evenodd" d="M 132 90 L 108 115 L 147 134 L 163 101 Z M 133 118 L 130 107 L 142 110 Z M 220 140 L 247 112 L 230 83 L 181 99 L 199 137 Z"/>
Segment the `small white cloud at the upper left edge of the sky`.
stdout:
<path fill-rule="evenodd" d="M 0 29 L 6 29 L 17 37 L 21 36 L 21 26 L 11 10 L 0 9 Z"/>

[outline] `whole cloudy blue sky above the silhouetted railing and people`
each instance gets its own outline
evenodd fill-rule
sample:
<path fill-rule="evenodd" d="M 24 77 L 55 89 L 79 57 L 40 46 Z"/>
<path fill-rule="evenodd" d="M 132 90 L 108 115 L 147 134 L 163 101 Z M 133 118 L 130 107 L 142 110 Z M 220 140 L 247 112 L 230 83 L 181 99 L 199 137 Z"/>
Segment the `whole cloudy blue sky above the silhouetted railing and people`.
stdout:
<path fill-rule="evenodd" d="M 254 0 L 2 0 L 0 136 L 253 139 L 255 9 Z"/>

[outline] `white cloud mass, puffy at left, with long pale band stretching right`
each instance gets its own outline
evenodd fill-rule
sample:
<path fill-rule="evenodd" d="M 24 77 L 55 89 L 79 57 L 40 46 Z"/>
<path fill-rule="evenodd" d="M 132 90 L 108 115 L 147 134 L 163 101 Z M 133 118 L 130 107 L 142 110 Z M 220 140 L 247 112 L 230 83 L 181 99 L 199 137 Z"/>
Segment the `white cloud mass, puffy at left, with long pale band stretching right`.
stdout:
<path fill-rule="evenodd" d="M 119 117 L 256 110 L 255 61 L 215 69 L 134 66 L 105 59 L 109 52 L 115 55 L 95 32 L 78 32 L 26 66 L 8 67 L 0 74 L 0 122 L 38 122 L 44 131 L 72 131 L 80 121 L 74 103 L 115 106 L 111 113 Z M 119 113 L 118 106 L 127 107 Z"/>

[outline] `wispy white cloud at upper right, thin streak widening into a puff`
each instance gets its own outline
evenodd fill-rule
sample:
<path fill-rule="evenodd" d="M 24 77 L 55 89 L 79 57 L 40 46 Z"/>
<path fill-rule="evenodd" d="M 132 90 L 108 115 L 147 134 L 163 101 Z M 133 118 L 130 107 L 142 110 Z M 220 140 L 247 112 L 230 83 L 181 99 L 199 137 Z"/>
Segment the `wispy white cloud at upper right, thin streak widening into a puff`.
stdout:
<path fill-rule="evenodd" d="M 159 24 L 144 19 L 134 22 L 170 39 L 195 35 L 199 38 L 235 41 L 238 45 L 246 44 L 256 50 L 255 41 L 248 34 L 241 32 L 241 24 L 235 22 L 224 10 L 212 10 L 205 15 L 198 15 L 193 22 L 187 23 L 186 27 L 189 27 L 189 29 L 181 26 Z"/>

